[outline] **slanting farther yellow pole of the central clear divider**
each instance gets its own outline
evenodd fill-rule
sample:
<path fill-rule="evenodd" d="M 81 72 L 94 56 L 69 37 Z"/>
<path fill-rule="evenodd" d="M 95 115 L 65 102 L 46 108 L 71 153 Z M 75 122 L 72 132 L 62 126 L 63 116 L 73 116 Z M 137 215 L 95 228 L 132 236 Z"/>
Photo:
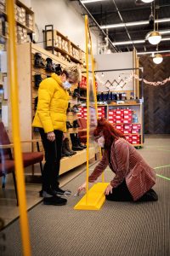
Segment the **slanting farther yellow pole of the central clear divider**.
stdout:
<path fill-rule="evenodd" d="M 88 24 L 88 34 L 89 34 L 89 40 L 90 40 L 90 55 L 91 55 L 91 60 L 92 60 L 92 74 L 93 74 L 93 83 L 94 83 L 94 102 L 95 102 L 95 109 L 96 109 L 97 119 L 98 119 L 97 92 L 96 92 L 96 87 L 95 87 L 95 76 L 94 76 L 94 55 L 93 55 L 93 49 L 92 49 L 92 38 L 91 38 L 91 34 L 90 34 L 89 24 Z M 99 150 L 99 153 L 100 153 L 100 159 L 101 159 L 101 157 L 102 157 L 101 148 Z M 102 179 L 102 182 L 105 183 L 104 172 L 101 175 L 101 179 Z"/>

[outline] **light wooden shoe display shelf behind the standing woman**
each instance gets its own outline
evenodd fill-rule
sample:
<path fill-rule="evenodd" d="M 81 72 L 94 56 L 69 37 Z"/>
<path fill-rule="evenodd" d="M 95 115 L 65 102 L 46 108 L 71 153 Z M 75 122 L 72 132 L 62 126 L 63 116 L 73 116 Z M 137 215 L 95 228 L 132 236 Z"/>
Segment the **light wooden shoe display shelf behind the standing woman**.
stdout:
<path fill-rule="evenodd" d="M 41 54 L 42 67 L 35 67 L 35 55 Z M 61 67 L 68 65 L 67 61 L 60 59 L 59 57 L 51 54 L 45 49 L 40 48 L 37 44 L 19 44 L 17 45 L 17 54 L 18 54 L 18 81 L 19 81 L 19 101 L 20 101 L 20 136 L 21 140 L 31 140 L 40 138 L 39 132 L 37 129 L 31 129 L 32 119 L 35 115 L 35 98 L 37 97 L 38 85 L 35 86 L 35 74 L 40 74 L 42 79 L 50 76 L 50 72 L 46 70 L 45 61 L 47 58 L 50 58 L 54 64 L 60 64 Z M 22 70 L 20 72 L 20 70 Z M 39 79 L 39 77 L 38 77 Z M 38 83 L 38 81 L 37 81 Z M 71 108 L 77 104 L 77 97 L 72 96 L 74 90 L 77 88 L 75 85 L 74 88 L 71 88 L 71 96 L 69 102 L 71 103 Z M 9 110 L 10 112 L 10 110 Z M 77 120 L 77 113 L 67 113 L 67 121 L 70 121 L 72 124 L 73 121 Z M 71 133 L 77 134 L 77 128 L 70 128 L 67 130 L 66 137 L 70 139 L 71 143 Z M 26 148 L 23 150 L 32 150 L 37 151 L 36 145 L 30 146 L 25 144 Z M 40 150 L 42 145 L 40 143 Z M 95 150 L 92 148 L 90 151 L 90 158 L 95 157 Z M 86 162 L 86 149 L 77 151 L 77 154 L 72 155 L 71 157 L 64 157 L 61 160 L 61 173 L 71 170 L 82 163 Z M 40 174 L 39 167 L 34 166 L 35 173 Z M 29 172 L 31 172 L 29 170 Z"/>

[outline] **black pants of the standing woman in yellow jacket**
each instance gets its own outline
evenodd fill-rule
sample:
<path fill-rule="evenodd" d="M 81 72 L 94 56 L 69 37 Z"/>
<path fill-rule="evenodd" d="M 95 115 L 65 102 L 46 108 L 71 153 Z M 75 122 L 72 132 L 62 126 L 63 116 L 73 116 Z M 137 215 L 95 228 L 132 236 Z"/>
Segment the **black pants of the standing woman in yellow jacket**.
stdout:
<path fill-rule="evenodd" d="M 50 142 L 47 133 L 39 128 L 42 145 L 45 150 L 45 164 L 42 170 L 42 190 L 57 189 L 59 187 L 59 167 L 61 159 L 63 131 L 54 130 L 55 140 Z"/>

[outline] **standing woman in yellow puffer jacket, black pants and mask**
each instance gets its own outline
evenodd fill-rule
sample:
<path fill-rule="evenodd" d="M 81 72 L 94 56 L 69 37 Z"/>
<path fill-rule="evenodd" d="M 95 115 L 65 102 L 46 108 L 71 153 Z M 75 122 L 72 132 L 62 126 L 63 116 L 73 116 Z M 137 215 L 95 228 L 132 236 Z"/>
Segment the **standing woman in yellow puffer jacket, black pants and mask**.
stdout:
<path fill-rule="evenodd" d="M 45 150 L 41 194 L 43 203 L 47 205 L 64 205 L 66 199 L 58 195 L 71 194 L 71 191 L 59 188 L 59 166 L 63 133 L 66 131 L 67 90 L 80 80 L 81 71 L 72 64 L 65 67 L 60 75 L 53 73 L 39 85 L 37 111 L 32 126 L 39 128 Z"/>

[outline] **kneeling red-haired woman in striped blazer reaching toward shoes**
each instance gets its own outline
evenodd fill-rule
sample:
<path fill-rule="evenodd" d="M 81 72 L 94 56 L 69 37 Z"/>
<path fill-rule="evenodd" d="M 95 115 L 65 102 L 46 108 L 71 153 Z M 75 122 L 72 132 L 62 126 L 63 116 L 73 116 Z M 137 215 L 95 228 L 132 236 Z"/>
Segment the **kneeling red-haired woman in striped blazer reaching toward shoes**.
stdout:
<path fill-rule="evenodd" d="M 156 183 L 156 174 L 139 154 L 127 143 L 124 135 L 117 131 L 106 119 L 99 119 L 94 130 L 94 138 L 105 148 L 102 160 L 88 177 L 93 183 L 109 165 L 115 177 L 105 189 L 105 197 L 110 201 L 157 201 L 156 192 L 151 189 Z M 86 183 L 78 188 L 80 193 Z"/>

